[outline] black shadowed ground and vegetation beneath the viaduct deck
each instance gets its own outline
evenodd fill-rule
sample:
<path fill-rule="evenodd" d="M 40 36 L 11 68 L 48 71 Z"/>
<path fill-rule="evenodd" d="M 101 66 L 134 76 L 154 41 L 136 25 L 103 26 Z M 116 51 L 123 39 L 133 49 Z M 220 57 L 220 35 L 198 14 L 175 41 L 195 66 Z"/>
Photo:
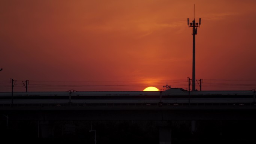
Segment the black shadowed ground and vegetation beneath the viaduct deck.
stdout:
<path fill-rule="evenodd" d="M 195 121 L 0 121 L 1 144 L 159 144 L 159 129 L 172 144 L 256 143 L 253 120 Z M 192 132 L 192 129 L 194 130 Z"/>

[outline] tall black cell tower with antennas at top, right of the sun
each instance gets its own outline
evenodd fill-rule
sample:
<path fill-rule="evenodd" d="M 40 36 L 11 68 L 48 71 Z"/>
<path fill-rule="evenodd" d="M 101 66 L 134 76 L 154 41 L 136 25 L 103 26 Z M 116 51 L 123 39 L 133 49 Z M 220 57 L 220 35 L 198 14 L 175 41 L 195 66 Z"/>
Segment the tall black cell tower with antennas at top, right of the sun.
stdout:
<path fill-rule="evenodd" d="M 197 27 L 201 25 L 201 18 L 199 18 L 199 22 L 195 22 L 195 4 L 194 4 L 194 20 L 189 22 L 188 18 L 188 26 L 193 28 L 193 70 L 192 70 L 192 91 L 195 91 L 195 35 L 197 34 Z"/>

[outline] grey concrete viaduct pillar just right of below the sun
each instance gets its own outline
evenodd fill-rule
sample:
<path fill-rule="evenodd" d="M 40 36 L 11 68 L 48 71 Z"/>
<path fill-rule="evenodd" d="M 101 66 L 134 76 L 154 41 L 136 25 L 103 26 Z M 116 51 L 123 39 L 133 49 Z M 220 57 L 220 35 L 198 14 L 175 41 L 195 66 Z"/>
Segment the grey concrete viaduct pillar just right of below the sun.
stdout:
<path fill-rule="evenodd" d="M 159 125 L 159 144 L 171 144 L 171 127 L 167 122 Z"/>

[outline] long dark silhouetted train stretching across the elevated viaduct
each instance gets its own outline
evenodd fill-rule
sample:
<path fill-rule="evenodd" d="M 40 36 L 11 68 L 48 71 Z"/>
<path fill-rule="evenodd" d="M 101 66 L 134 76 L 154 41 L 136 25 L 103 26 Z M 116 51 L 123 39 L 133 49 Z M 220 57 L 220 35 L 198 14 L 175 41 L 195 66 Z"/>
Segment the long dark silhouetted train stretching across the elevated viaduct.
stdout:
<path fill-rule="evenodd" d="M 255 102 L 255 91 L 89 91 L 0 92 L 0 104 L 156 104 Z"/>

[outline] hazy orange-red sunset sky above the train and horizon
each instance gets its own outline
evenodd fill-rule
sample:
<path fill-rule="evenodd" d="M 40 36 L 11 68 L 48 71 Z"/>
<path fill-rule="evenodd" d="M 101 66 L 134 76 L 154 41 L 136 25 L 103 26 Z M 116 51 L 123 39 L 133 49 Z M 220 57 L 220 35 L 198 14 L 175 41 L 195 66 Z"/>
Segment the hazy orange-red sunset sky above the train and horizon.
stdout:
<path fill-rule="evenodd" d="M 255 0 L 1 0 L 0 91 L 186 89 L 194 4 L 202 90 L 255 89 Z"/>

